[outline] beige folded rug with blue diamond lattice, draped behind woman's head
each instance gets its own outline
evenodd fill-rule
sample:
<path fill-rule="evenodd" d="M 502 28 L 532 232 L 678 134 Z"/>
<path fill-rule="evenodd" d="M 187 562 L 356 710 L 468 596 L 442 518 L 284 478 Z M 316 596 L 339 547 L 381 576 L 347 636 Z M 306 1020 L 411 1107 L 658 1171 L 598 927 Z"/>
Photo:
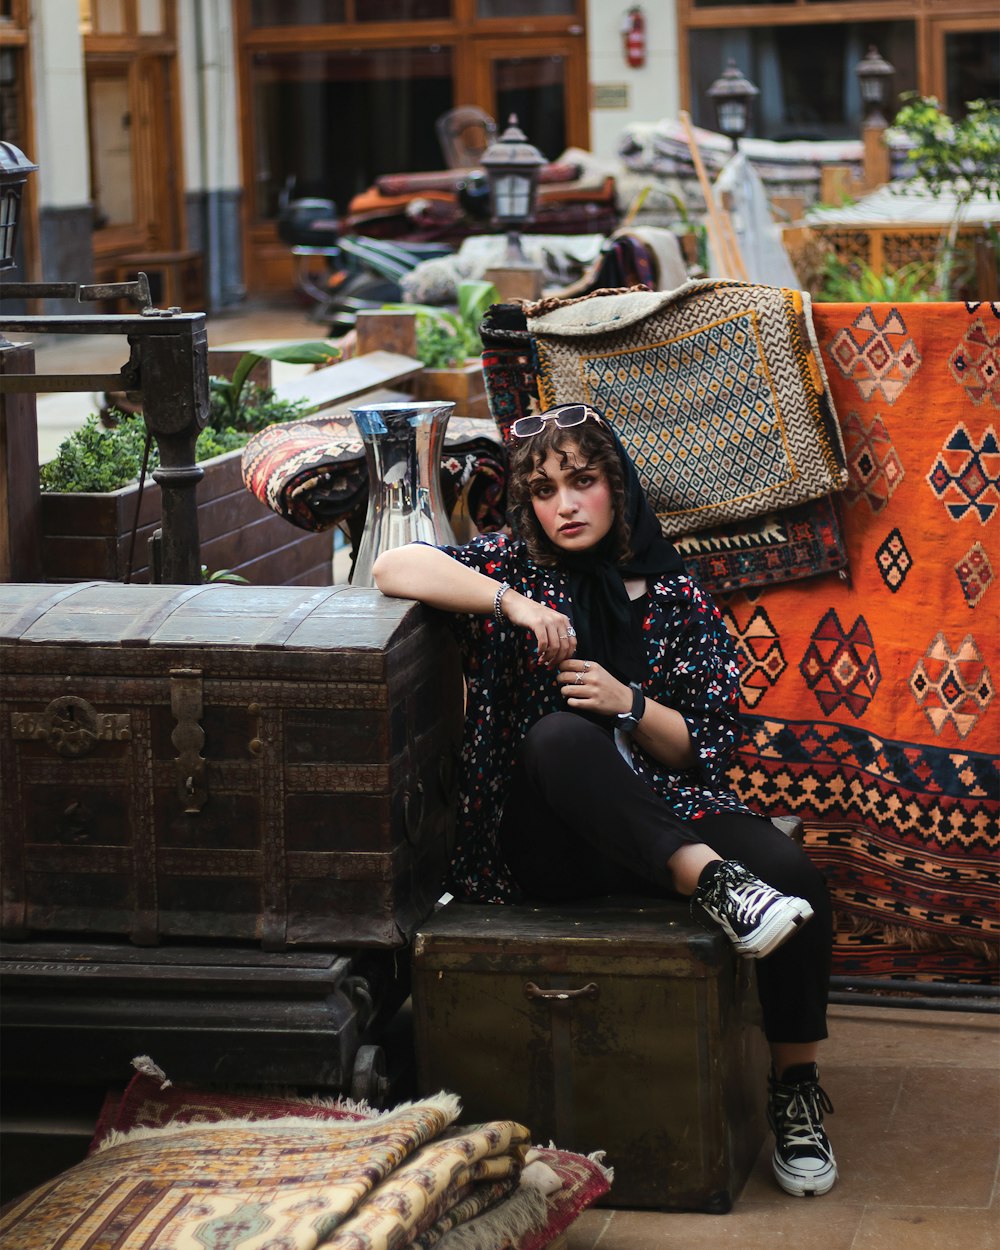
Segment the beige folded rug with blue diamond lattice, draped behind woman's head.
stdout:
<path fill-rule="evenodd" d="M 844 486 L 840 428 L 800 291 L 691 281 L 525 311 L 541 402 L 609 414 L 668 536 Z"/>

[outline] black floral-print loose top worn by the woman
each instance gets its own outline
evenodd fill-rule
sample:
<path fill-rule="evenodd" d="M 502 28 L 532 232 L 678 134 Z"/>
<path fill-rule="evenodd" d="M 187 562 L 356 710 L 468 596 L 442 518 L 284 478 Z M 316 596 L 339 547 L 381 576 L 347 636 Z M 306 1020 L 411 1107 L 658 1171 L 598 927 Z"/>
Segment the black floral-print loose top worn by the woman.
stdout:
<path fill-rule="evenodd" d="M 569 578 L 559 569 L 536 565 L 524 542 L 488 534 L 466 546 L 441 550 L 572 619 Z M 642 614 L 646 651 L 642 690 L 684 716 L 698 762 L 671 771 L 632 745 L 635 771 L 681 820 L 748 811 L 726 784 L 726 768 L 740 734 L 739 669 L 719 610 L 686 574 L 651 579 L 636 610 Z M 516 750 L 536 720 L 566 705 L 556 670 L 538 664 L 529 631 L 492 616 L 454 614 L 451 622 L 462 652 L 468 704 L 448 889 L 465 900 L 509 902 L 519 891 L 498 850 L 496 830 Z"/>

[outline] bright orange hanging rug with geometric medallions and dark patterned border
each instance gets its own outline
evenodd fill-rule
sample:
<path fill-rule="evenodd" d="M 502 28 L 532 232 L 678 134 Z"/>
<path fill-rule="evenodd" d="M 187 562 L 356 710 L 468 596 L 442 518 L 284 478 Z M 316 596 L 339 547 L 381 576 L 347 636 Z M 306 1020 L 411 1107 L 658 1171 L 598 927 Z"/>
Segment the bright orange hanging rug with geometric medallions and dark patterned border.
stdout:
<path fill-rule="evenodd" d="M 720 599 L 748 714 L 731 780 L 804 819 L 835 971 L 995 979 L 1000 311 L 814 318 L 848 452 L 849 580 Z"/>

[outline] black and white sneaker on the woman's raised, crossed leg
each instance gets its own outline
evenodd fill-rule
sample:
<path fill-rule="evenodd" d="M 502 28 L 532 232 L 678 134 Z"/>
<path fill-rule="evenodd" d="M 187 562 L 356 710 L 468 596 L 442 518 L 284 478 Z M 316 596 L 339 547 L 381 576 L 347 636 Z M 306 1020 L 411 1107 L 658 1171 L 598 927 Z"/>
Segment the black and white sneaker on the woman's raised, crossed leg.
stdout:
<path fill-rule="evenodd" d="M 779 894 L 736 860 L 710 864 L 691 902 L 722 926 L 744 959 L 770 955 L 812 915 L 805 899 Z"/>

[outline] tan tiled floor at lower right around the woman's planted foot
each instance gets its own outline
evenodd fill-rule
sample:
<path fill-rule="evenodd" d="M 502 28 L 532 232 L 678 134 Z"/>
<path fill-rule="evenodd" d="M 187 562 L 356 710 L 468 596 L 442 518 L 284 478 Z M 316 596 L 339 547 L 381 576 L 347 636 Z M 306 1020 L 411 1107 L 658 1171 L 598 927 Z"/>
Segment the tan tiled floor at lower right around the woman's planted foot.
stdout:
<path fill-rule="evenodd" d="M 822 1084 L 840 1180 L 785 1196 L 765 1144 L 729 1215 L 591 1210 L 568 1250 L 998 1250 L 1000 1019 L 831 1009 Z"/>

